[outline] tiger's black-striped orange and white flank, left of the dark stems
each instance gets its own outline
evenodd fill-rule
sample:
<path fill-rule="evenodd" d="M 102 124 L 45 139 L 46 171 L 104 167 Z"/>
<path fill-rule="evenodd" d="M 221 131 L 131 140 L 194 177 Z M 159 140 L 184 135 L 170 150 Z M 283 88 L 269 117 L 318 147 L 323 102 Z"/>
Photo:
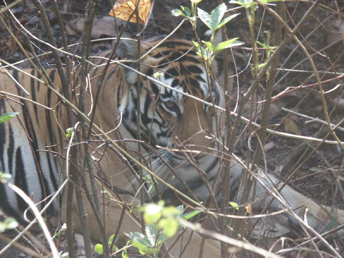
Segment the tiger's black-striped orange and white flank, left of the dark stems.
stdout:
<path fill-rule="evenodd" d="M 27 72 L 37 77 L 35 70 L 27 70 Z M 56 69 L 50 69 L 48 73 L 54 85 L 58 85 L 60 81 Z M 25 95 L 5 75 L 1 75 L 1 91 L 29 97 L 46 107 L 54 108 L 57 105 L 58 99 L 48 87 L 18 71 L 13 71 L 12 76 L 21 83 L 29 80 L 30 84 L 23 85 L 28 89 L 30 96 Z M 0 114 L 7 112 L 20 114 L 18 119 L 0 123 L 0 171 L 11 174 L 9 181 L 23 189 L 35 203 L 38 203 L 57 190 L 62 166 L 59 160 L 54 158 L 53 152 L 62 153 L 62 146 L 53 145 L 63 141 L 64 132 L 59 130 L 54 114 L 50 110 L 23 99 L 1 95 Z M 61 105 L 57 105 L 55 114 L 63 117 L 61 113 Z M 46 146 L 51 147 L 47 149 Z M 3 184 L 0 184 L 0 196 L 3 197 L 2 206 L 11 214 L 17 214 L 16 211 L 23 213 L 27 207 L 18 195 L 8 191 Z M 52 210 L 56 210 L 56 204 L 51 207 Z M 20 215 L 17 214 L 17 217 Z"/>

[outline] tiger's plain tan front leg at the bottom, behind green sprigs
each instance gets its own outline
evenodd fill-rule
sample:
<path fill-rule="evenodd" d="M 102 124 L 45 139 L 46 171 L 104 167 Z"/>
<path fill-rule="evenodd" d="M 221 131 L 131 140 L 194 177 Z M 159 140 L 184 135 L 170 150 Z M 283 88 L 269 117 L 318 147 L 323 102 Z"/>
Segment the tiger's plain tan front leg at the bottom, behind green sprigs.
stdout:
<path fill-rule="evenodd" d="M 88 175 L 87 175 L 88 177 Z M 89 179 L 86 178 L 88 186 L 90 185 Z M 90 187 L 88 187 L 90 189 Z M 131 194 L 121 194 L 120 200 L 113 194 L 112 197 L 109 197 L 107 193 L 104 193 L 104 189 L 98 185 L 98 196 L 100 200 L 100 206 L 102 208 L 102 223 L 106 230 L 106 237 L 109 237 L 112 234 L 115 234 L 117 227 L 119 227 L 118 239 L 115 243 L 118 247 L 123 247 L 127 244 L 129 238 L 125 235 L 125 233 L 129 232 L 142 232 L 141 225 L 136 218 L 141 218 L 138 209 L 132 209 L 133 213 L 130 212 L 131 207 L 138 207 L 139 201 L 134 200 Z M 106 189 L 105 192 L 109 191 Z M 110 191 L 109 191 L 110 192 Z M 64 214 L 63 221 L 65 221 L 65 215 L 67 214 L 66 210 L 66 199 L 67 199 L 67 191 L 65 191 L 64 200 L 62 204 L 62 214 Z M 88 223 L 88 229 L 90 236 L 95 241 L 101 241 L 102 239 L 102 231 L 99 227 L 97 222 L 96 216 L 92 211 L 92 207 L 89 201 L 86 198 L 86 194 L 83 190 L 83 201 L 86 210 L 86 219 Z M 133 204 L 134 203 L 134 204 Z M 123 209 L 125 209 L 125 214 L 122 216 Z M 69 211 L 70 212 L 70 211 Z M 104 218 L 104 220 L 103 220 Z M 78 203 L 75 198 L 75 193 L 73 195 L 72 201 L 72 224 L 73 229 L 79 233 L 83 233 L 83 224 L 80 220 L 80 215 L 78 211 Z M 179 233 L 183 229 L 179 229 L 174 237 L 171 239 L 166 240 L 167 248 L 172 255 L 172 257 L 198 257 L 201 245 L 202 245 L 202 237 L 193 232 L 191 229 L 185 229 L 182 233 L 182 236 Z M 192 233 L 193 232 L 193 233 Z M 191 238 L 190 238 L 191 236 Z M 190 238 L 190 239 L 189 239 Z M 134 251 L 134 250 L 133 250 Z M 136 250 L 137 251 L 137 250 Z M 215 240 L 206 239 L 203 243 L 202 254 L 204 258 L 213 257 L 213 258 L 220 258 L 221 257 L 221 249 L 220 243 Z"/>

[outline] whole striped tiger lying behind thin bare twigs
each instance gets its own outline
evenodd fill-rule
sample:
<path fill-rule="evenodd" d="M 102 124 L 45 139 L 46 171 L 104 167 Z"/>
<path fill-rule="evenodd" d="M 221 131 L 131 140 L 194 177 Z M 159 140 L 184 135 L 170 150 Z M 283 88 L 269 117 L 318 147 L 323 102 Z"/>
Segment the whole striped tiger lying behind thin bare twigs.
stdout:
<path fill-rule="evenodd" d="M 118 55 L 119 57 L 128 57 L 128 59 L 135 60 L 138 57 L 135 48 L 136 42 L 134 44 L 120 44 Z M 143 53 L 140 56 L 149 48 L 148 45 L 143 44 Z M 119 144 L 125 147 L 130 154 L 138 157 L 137 142 L 125 141 L 125 139 L 137 138 L 137 75 L 130 69 L 115 66 L 112 65 L 104 80 L 94 121 L 101 127 L 103 132 L 109 132 L 107 135 L 111 139 L 118 140 Z M 213 70 L 216 70 L 215 66 Z M 203 67 L 201 57 L 196 55 L 192 49 L 192 44 L 188 41 L 167 40 L 156 51 L 152 51 L 142 60 L 141 71 L 148 76 L 152 76 L 157 71 L 162 72 L 159 79 L 162 83 L 202 100 L 208 102 L 213 100 L 216 105 L 224 105 L 221 88 L 211 80 L 209 81 L 210 87 L 208 86 L 207 73 Z M 28 72 L 37 75 L 34 71 L 29 70 Z M 60 81 L 55 70 L 49 69 L 47 72 L 57 90 L 60 90 Z M 90 69 L 90 78 L 98 78 L 101 72 L 102 69 Z M 63 177 L 59 175 L 63 175 L 66 158 L 65 147 L 67 141 L 65 141 L 64 135 L 68 127 L 66 112 L 65 108 L 59 103 L 56 94 L 47 86 L 37 84 L 36 81 L 29 79 L 29 77 L 24 77 L 24 75 L 16 72 L 12 72 L 12 75 L 29 90 L 29 97 L 33 101 L 54 109 L 53 113 L 24 100 L 25 105 L 21 105 L 11 99 L 7 101 L 4 97 L 0 97 L 0 114 L 13 111 L 20 112 L 19 119 L 14 118 L 0 124 L 0 170 L 11 173 L 12 182 L 24 189 L 35 202 L 38 202 L 54 193 L 57 190 L 60 178 Z M 97 80 L 91 79 L 92 86 L 87 89 L 86 113 L 92 109 L 93 97 L 97 91 L 96 82 Z M 140 85 L 142 140 L 154 148 L 157 145 L 161 146 L 158 147 L 156 154 L 151 154 L 149 147 L 142 144 L 142 150 L 145 153 L 143 154 L 146 160 L 145 164 L 148 164 L 153 172 L 167 180 L 172 186 L 192 196 L 186 190 L 185 184 L 181 182 L 181 179 L 184 180 L 196 197 L 203 201 L 208 195 L 208 190 L 201 179 L 200 173 L 207 176 L 211 186 L 212 180 L 215 179 L 221 168 L 220 159 L 217 157 L 219 154 L 214 149 L 218 145 L 216 143 L 218 139 L 216 139 L 215 135 L 221 133 L 221 130 L 217 131 L 217 128 L 221 128 L 221 116 L 223 114 L 221 115 L 219 112 L 215 114 L 213 110 L 203 103 L 159 86 L 156 82 L 152 82 L 147 78 L 141 77 Z M 23 95 L 5 75 L 0 77 L 0 90 Z M 74 91 L 74 95 L 77 95 L 76 93 L 77 91 Z M 219 119 L 215 119 L 214 115 L 218 115 Z M 121 116 L 121 120 L 118 119 L 119 116 Z M 29 137 L 23 130 L 20 121 L 22 121 Z M 218 124 L 216 124 L 216 121 Z M 105 228 L 107 234 L 111 235 L 117 227 L 118 218 L 122 211 L 122 203 L 133 202 L 140 189 L 140 184 L 128 171 L 121 158 L 115 152 L 109 151 L 103 142 L 89 144 L 94 151 L 94 168 L 97 176 L 108 185 L 113 186 L 113 189 L 107 188 L 107 190 L 112 191 L 115 189 L 118 193 L 118 199 L 120 199 L 120 202 L 116 202 L 113 199 L 109 201 L 107 197 L 100 198 L 101 205 L 105 208 Z M 46 149 L 49 151 L 46 151 Z M 183 151 L 196 154 L 184 155 Z M 34 155 L 36 158 L 34 158 Z M 168 165 L 162 162 L 160 158 L 165 160 Z M 171 167 L 176 174 L 171 172 Z M 231 196 L 234 196 L 235 192 L 241 193 L 241 190 L 235 184 L 241 173 L 241 167 L 234 162 L 231 168 L 230 187 L 231 191 L 233 191 Z M 276 181 L 277 178 L 270 176 L 270 179 L 263 178 L 262 184 L 270 189 L 271 185 Z M 105 184 L 105 187 L 107 187 L 107 184 Z M 159 184 L 157 188 L 158 192 L 161 193 L 166 187 Z M 266 192 L 265 187 L 258 184 L 256 196 L 260 198 L 260 201 L 270 200 L 266 198 L 269 196 L 265 195 Z M 21 205 L 23 203 L 20 199 L 3 186 L 0 186 L 0 194 L 5 196 L 4 199 L 1 199 L 1 206 L 5 210 L 18 213 L 25 208 L 24 205 Z M 98 194 L 103 197 L 100 185 L 98 185 Z M 285 187 L 281 194 L 292 208 L 307 205 L 311 209 L 311 215 L 309 215 L 310 225 L 315 227 L 317 220 L 325 224 L 329 219 L 327 213 L 320 210 L 314 201 L 297 193 L 290 187 Z M 87 201 L 85 201 L 85 205 L 88 221 L 92 222 L 89 224 L 91 236 L 99 240 L 101 233 L 97 223 L 94 223 L 96 221 L 95 216 Z M 280 205 L 281 201 L 272 202 L 274 209 L 278 209 Z M 82 231 L 83 226 L 78 217 L 76 201 L 73 202 L 73 207 L 75 207 L 73 208 L 72 217 L 74 229 Z M 64 205 L 62 209 L 64 215 L 69 212 L 65 208 Z M 300 209 L 297 212 L 299 212 L 299 216 L 302 216 Z M 338 221 L 344 221 L 344 212 L 339 211 L 338 214 Z M 133 223 L 130 216 L 124 216 L 121 225 L 122 232 L 140 230 L 138 224 Z M 186 234 L 189 235 L 190 231 L 187 231 Z M 126 241 L 122 234 L 119 237 L 119 241 L 121 240 L 122 243 Z M 189 247 L 186 249 L 185 257 L 197 256 L 200 245 L 201 238 L 194 235 Z M 172 249 L 172 254 L 178 256 L 179 253 L 180 243 L 178 242 L 175 248 Z M 206 241 L 203 255 L 204 257 L 220 257 L 218 245 Z"/>

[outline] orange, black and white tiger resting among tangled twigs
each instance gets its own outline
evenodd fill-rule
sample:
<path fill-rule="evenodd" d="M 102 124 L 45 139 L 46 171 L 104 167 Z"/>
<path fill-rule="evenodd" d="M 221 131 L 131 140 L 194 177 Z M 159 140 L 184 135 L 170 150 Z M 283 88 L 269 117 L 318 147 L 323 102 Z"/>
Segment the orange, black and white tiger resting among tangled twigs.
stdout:
<path fill-rule="evenodd" d="M 209 196 L 209 190 L 201 174 L 208 180 L 208 185 L 212 186 L 223 167 L 219 151 L 223 143 L 217 134 L 224 130 L 218 128 L 225 128 L 225 92 L 220 83 L 209 76 L 209 73 L 218 73 L 217 64 L 214 61 L 210 69 L 206 69 L 194 44 L 184 39 L 142 42 L 140 50 L 139 53 L 134 40 L 119 41 L 116 56 L 126 65 L 119 65 L 119 62 L 110 65 L 95 104 L 94 122 L 109 139 L 130 153 L 135 160 L 141 157 L 142 163 L 146 164 L 143 173 L 152 171 L 169 184 L 170 189 L 164 191 L 168 187 L 161 181 L 157 182 L 156 193 L 152 194 L 151 198 L 145 194 L 145 201 L 159 200 L 161 196 L 166 201 L 182 199 L 176 191 L 204 201 Z M 95 61 L 92 58 L 90 60 L 96 64 L 104 63 L 110 53 L 111 51 L 104 52 L 102 58 L 94 57 Z M 138 68 L 137 62 L 130 61 L 140 57 L 143 58 L 140 59 L 141 73 L 138 75 L 135 71 Z M 68 128 L 66 109 L 62 105 L 63 100 L 56 93 L 61 90 L 57 70 L 46 70 L 56 90 L 47 87 L 36 70 L 23 71 L 9 70 L 10 76 L 6 73 L 0 74 L 0 114 L 19 112 L 16 118 L 0 123 L 0 171 L 11 174 L 12 177 L 8 181 L 23 189 L 32 201 L 42 208 L 49 197 L 56 193 L 66 176 L 66 149 L 73 147 L 68 144 L 69 138 L 65 134 Z M 102 72 L 99 67 L 94 69 L 90 66 L 88 70 L 90 80 L 86 88 L 87 113 L 93 108 L 93 98 L 97 92 L 96 82 Z M 156 78 L 152 78 L 153 76 Z M 78 80 L 80 78 L 76 76 L 74 85 L 78 85 Z M 25 95 L 17 84 L 24 86 L 29 95 Z M 71 90 L 74 102 L 78 103 L 78 87 Z M 138 116 L 141 131 L 139 137 Z M 104 137 L 94 130 L 91 139 L 99 140 L 97 136 Z M 114 234 L 119 223 L 123 206 L 140 204 L 139 191 L 146 186 L 146 182 L 143 181 L 141 185 L 137 178 L 140 168 L 133 165 L 131 168 L 136 175 L 130 172 L 128 163 L 125 162 L 127 156 L 110 151 L 106 147 L 106 141 L 89 141 L 88 144 L 93 151 L 97 192 L 101 209 L 104 211 L 102 223 L 109 237 Z M 240 159 L 231 159 L 228 187 L 230 196 L 239 196 L 237 200 L 240 200 L 243 193 L 238 182 L 244 171 Z M 255 196 L 254 208 L 271 202 L 271 209 L 294 210 L 303 220 L 305 209 L 300 207 L 307 207 L 307 223 L 319 232 L 331 220 L 330 208 L 320 207 L 315 201 L 288 185 L 279 193 L 276 192 L 276 198 L 273 198 L 269 192 L 278 189 L 283 182 L 270 173 L 258 172 L 257 176 L 259 180 L 255 193 L 251 190 L 251 198 Z M 85 180 L 86 184 L 90 183 L 88 176 L 85 176 Z M 62 221 L 65 220 L 66 214 L 71 212 L 65 204 L 66 192 L 64 191 L 62 197 Z M 106 192 L 112 193 L 111 197 Z M 163 192 L 166 194 L 163 195 Z M 7 214 L 20 218 L 27 208 L 26 203 L 4 184 L 0 184 L 0 196 L 1 208 Z M 96 217 L 85 193 L 83 198 L 86 217 L 90 222 L 90 236 L 99 240 L 101 230 L 95 223 Z M 55 201 L 49 207 L 52 214 L 58 211 L 58 205 Z M 83 224 L 75 198 L 72 201 L 72 211 L 73 229 L 82 232 Z M 132 212 L 139 217 L 137 209 Z M 343 224 L 344 211 L 338 209 L 336 212 L 338 223 Z M 288 218 L 293 224 L 298 224 L 294 217 Z M 140 224 L 128 211 L 121 218 L 116 244 L 124 245 L 128 240 L 125 233 L 135 231 L 141 231 Z M 184 237 L 175 236 L 167 240 L 168 244 L 174 242 L 169 249 L 173 257 L 198 256 L 201 245 L 203 257 L 221 257 L 218 241 L 206 239 L 203 243 L 201 235 L 192 232 L 191 229 L 186 229 Z M 189 236 L 192 236 L 191 239 L 188 239 Z M 185 242 L 188 242 L 188 245 L 183 248 Z"/>

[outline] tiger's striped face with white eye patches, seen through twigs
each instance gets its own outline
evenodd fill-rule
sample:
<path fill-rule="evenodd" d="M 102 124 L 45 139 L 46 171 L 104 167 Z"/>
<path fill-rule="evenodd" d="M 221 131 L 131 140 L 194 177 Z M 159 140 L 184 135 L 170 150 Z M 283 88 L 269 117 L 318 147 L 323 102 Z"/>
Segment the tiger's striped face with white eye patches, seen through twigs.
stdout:
<path fill-rule="evenodd" d="M 215 65 L 211 69 L 216 72 Z M 198 177 L 198 169 L 214 176 L 218 163 L 214 151 L 217 111 L 181 93 L 220 106 L 223 105 L 223 97 L 217 82 L 207 75 L 202 58 L 196 54 L 192 42 L 167 40 L 143 59 L 141 71 L 149 77 L 158 74 L 157 81 L 171 86 L 167 88 L 158 82 L 140 78 L 141 137 L 157 148 L 157 154 L 152 154 L 155 157 L 160 155 L 156 166 L 161 164 L 159 160 L 163 158 L 180 171 L 178 173 L 185 181 Z M 122 123 L 136 137 L 138 77 L 133 71 L 125 72 L 125 82 L 121 86 L 125 87 L 122 92 L 126 94 L 120 95 L 118 110 L 122 113 Z M 164 172 L 165 169 L 161 167 L 159 170 Z"/>

